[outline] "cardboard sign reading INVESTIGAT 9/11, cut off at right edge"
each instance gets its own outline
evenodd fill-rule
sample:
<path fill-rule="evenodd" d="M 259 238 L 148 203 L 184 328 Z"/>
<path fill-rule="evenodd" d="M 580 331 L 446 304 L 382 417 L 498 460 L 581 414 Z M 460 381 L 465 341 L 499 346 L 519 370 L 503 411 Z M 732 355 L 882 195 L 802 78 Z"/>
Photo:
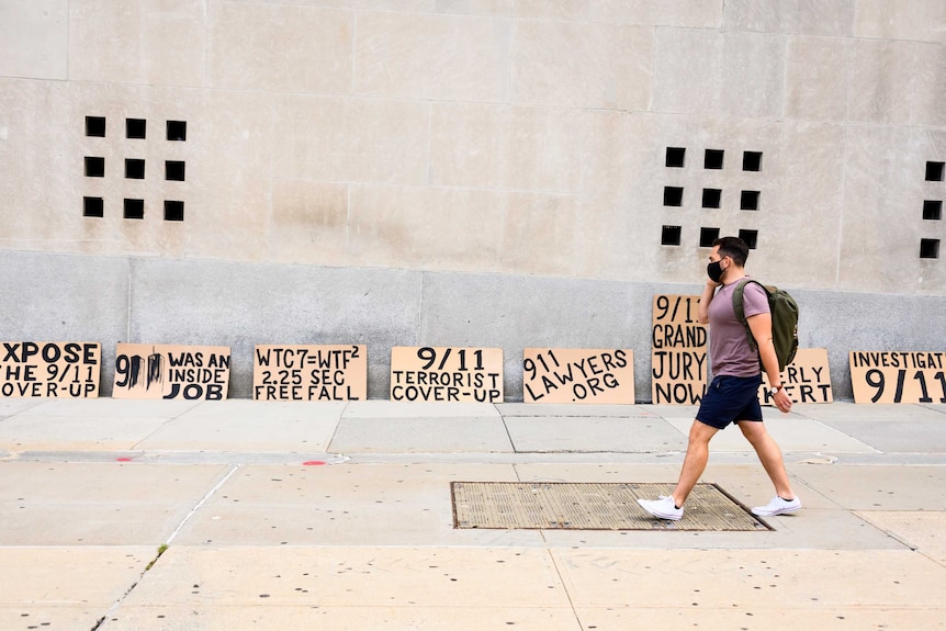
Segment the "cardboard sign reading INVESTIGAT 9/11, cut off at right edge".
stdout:
<path fill-rule="evenodd" d="M 946 403 L 946 352 L 851 351 L 854 403 Z"/>

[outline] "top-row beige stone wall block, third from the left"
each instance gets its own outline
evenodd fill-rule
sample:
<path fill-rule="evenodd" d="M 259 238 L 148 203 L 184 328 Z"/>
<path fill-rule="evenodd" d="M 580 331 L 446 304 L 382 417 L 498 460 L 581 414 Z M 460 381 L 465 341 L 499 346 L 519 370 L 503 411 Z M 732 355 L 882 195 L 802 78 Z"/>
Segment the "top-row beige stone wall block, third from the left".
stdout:
<path fill-rule="evenodd" d="M 353 12 L 244 2 L 214 2 L 210 7 L 211 86 L 275 92 L 350 92 Z"/>

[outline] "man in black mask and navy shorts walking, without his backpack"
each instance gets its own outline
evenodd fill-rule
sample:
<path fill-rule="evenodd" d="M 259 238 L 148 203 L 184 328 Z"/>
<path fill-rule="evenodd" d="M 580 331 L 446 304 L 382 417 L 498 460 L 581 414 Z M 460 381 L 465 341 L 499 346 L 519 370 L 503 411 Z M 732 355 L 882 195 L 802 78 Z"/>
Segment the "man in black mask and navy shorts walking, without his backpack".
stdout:
<path fill-rule="evenodd" d="M 687 454 L 673 493 L 660 499 L 638 499 L 654 517 L 677 520 L 684 516 L 684 503 L 706 469 L 710 439 L 731 422 L 739 425 L 775 485 L 776 495 L 772 502 L 752 511 L 770 517 L 801 508 L 801 502 L 789 484 L 781 450 L 762 422 L 762 406 L 758 403 L 762 359 L 776 407 L 782 413 L 791 409 L 791 399 L 781 384 L 778 358 L 772 341 L 768 298 L 757 284 L 745 285 L 744 313 L 758 346 L 758 353 L 750 347 L 745 325 L 736 317 L 732 303 L 739 281 L 747 278 L 747 257 L 748 247 L 737 237 L 722 237 L 713 241 L 707 266 L 709 280 L 699 305 L 699 322 L 708 323 L 710 327 L 709 353 L 713 380 L 690 428 Z"/>

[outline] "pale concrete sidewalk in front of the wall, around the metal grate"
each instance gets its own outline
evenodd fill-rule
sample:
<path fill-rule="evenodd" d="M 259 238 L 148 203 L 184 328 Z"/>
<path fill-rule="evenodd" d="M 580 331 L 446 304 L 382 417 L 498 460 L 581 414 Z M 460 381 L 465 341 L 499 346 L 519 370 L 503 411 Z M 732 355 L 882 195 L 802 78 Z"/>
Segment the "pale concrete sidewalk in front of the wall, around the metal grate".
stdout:
<path fill-rule="evenodd" d="M 0 399 L 0 629 L 946 629 L 946 405 L 767 412 L 769 532 L 453 528 L 451 482 L 673 483 L 694 414 Z M 772 495 L 732 428 L 703 482 Z"/>

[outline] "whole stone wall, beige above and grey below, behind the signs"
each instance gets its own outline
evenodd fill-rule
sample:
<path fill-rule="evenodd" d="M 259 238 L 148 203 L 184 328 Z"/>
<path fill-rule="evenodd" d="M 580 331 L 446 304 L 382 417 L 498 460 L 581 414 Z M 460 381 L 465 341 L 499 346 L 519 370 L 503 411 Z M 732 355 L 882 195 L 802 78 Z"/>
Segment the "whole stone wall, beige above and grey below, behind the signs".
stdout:
<path fill-rule="evenodd" d="M 843 396 L 848 350 L 944 349 L 944 84 L 938 0 L 0 0 L 0 337 L 364 340 L 372 396 L 394 343 L 502 346 L 510 394 L 522 347 L 627 343 L 640 381 L 655 289 L 754 230 Z"/>

